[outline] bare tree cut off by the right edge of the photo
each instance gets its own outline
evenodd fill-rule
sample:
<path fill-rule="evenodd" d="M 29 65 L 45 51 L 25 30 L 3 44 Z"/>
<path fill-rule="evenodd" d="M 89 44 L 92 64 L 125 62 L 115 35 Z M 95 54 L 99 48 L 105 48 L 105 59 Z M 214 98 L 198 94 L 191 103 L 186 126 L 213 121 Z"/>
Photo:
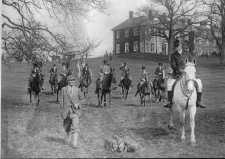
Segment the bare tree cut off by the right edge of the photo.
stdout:
<path fill-rule="evenodd" d="M 210 25 L 211 34 L 220 52 L 220 63 L 225 64 L 225 1 L 202 0 L 202 2 L 208 7 L 205 15 Z"/>

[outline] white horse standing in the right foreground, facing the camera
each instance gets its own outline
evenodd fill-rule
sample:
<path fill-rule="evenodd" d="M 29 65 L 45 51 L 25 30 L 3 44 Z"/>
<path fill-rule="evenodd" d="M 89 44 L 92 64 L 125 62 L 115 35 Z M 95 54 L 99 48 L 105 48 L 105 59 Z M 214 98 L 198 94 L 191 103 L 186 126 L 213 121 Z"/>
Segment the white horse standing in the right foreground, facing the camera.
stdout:
<path fill-rule="evenodd" d="M 195 115 L 196 115 L 196 100 L 197 93 L 194 87 L 196 79 L 195 61 L 189 62 L 186 60 L 185 69 L 182 78 L 177 81 L 174 87 L 173 106 L 170 109 L 169 127 L 173 128 L 173 113 L 179 112 L 181 120 L 181 140 L 185 140 L 185 114 L 188 111 L 190 116 L 191 127 L 191 144 L 195 145 Z"/>

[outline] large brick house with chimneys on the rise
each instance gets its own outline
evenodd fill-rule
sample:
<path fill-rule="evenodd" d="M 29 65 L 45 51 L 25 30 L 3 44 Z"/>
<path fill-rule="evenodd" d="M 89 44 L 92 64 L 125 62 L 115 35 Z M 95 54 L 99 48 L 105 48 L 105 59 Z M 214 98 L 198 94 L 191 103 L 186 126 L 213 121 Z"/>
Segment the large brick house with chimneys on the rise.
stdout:
<path fill-rule="evenodd" d="M 148 16 L 134 17 L 133 11 L 129 18 L 112 29 L 113 52 L 123 53 L 156 53 L 168 54 L 166 39 L 153 36 L 158 25 L 157 18 L 153 18 L 151 11 Z"/>

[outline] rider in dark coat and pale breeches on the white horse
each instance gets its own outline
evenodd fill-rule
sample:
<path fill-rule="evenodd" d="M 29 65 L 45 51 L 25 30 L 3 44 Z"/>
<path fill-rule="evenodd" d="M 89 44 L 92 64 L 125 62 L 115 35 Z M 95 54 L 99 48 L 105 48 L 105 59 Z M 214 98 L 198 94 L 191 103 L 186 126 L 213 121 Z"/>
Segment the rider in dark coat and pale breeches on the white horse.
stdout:
<path fill-rule="evenodd" d="M 181 78 L 183 69 L 185 67 L 184 60 L 182 58 L 182 46 L 180 44 L 180 41 L 178 39 L 174 42 L 175 52 L 171 54 L 171 61 L 170 65 L 172 68 L 172 76 L 167 81 L 167 91 L 168 91 L 168 103 L 164 105 L 166 108 L 171 108 L 173 103 L 173 88 L 175 85 L 175 82 Z M 205 108 L 201 104 L 201 97 L 202 97 L 202 82 L 200 79 L 195 79 L 195 87 L 197 90 L 197 102 L 196 106 L 200 108 Z"/>

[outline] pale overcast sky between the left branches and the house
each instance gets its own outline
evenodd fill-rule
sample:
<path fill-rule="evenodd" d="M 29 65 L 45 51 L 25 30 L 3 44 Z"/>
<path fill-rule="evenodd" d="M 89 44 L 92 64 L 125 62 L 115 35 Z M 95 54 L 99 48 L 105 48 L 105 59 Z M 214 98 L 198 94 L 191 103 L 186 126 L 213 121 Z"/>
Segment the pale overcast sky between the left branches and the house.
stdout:
<path fill-rule="evenodd" d="M 91 39 L 100 40 L 101 45 L 95 49 L 93 54 L 99 56 L 106 50 L 112 51 L 113 32 L 112 28 L 126 20 L 129 11 L 135 11 L 146 3 L 146 0 L 108 0 L 106 13 L 91 11 L 89 20 L 85 20 L 86 33 Z"/>

